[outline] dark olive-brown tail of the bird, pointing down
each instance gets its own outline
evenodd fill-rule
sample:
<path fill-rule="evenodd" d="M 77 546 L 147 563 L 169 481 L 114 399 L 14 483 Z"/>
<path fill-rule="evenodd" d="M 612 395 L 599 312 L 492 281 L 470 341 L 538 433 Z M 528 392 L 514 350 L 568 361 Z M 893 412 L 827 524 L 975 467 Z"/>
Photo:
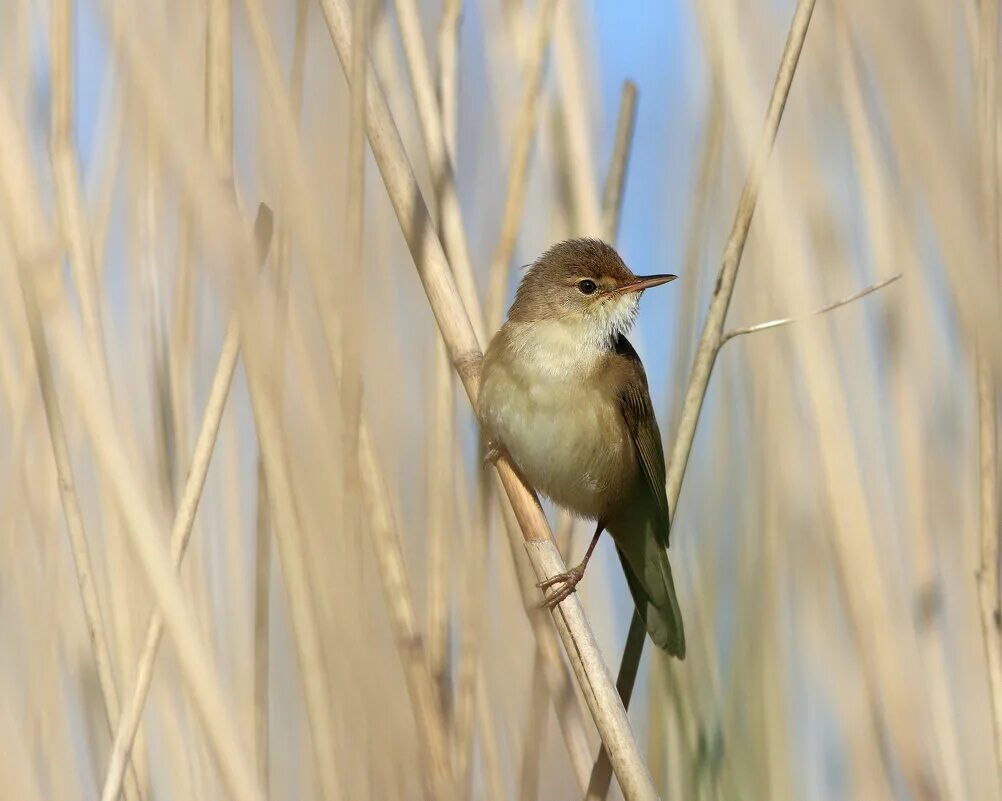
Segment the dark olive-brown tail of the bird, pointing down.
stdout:
<path fill-rule="evenodd" d="M 684 659 L 685 632 L 667 550 L 647 525 L 628 533 L 617 531 L 613 538 L 637 614 L 650 639 L 672 657 Z"/>

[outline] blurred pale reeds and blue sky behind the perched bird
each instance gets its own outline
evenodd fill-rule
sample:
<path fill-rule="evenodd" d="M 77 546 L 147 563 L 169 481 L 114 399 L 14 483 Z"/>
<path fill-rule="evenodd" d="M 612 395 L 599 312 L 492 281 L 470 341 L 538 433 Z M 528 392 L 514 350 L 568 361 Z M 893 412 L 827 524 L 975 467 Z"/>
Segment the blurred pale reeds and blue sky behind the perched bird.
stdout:
<path fill-rule="evenodd" d="M 795 5 L 356 2 L 366 111 L 350 0 L 3 0 L 0 796 L 582 797 L 595 726 L 363 114 L 482 344 L 520 265 L 614 237 L 625 165 L 626 262 L 681 277 L 633 337 L 670 452 Z M 629 712 L 663 798 L 1002 793 L 998 25 L 817 4 L 726 328 L 903 277 L 720 349 L 688 656 Z M 608 538 L 577 595 L 614 675 Z"/>

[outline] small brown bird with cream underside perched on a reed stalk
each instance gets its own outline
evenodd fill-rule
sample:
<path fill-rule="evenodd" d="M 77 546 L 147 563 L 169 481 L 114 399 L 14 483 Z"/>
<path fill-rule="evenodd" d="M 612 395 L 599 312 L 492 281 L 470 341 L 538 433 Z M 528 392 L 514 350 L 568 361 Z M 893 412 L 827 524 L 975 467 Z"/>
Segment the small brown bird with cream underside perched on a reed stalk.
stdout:
<path fill-rule="evenodd" d="M 612 246 L 559 242 L 524 273 L 484 354 L 477 414 L 487 458 L 505 453 L 538 492 L 596 523 L 581 562 L 538 586 L 550 609 L 575 590 L 603 531 L 615 542 L 651 641 L 684 659 L 668 563 L 664 451 L 643 364 L 626 339 L 644 290 Z"/>

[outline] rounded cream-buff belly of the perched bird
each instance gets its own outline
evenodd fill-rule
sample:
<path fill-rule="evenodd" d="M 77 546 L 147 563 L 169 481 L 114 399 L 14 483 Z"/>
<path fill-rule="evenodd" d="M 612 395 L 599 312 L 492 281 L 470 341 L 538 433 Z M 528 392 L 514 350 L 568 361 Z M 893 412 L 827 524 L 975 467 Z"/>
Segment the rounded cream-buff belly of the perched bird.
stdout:
<path fill-rule="evenodd" d="M 540 492 L 584 517 L 604 517 L 635 470 L 613 399 L 574 382 L 494 378 L 482 389 L 490 434 Z"/>

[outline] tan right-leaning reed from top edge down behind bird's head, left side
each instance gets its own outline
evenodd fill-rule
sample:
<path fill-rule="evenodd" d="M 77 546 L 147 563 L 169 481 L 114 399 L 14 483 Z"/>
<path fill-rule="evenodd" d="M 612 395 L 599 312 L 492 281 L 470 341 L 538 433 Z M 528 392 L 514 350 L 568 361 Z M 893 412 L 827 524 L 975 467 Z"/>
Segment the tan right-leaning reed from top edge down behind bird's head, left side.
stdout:
<path fill-rule="evenodd" d="M 504 300 L 511 275 L 511 260 L 515 253 L 518 230 L 525 208 L 525 190 L 528 185 L 529 155 L 536 135 L 543 84 L 546 51 L 553 32 L 557 0 L 540 0 L 532 36 L 529 62 L 522 81 L 522 99 L 515 117 L 512 132 L 510 161 L 508 162 L 508 188 L 505 193 L 501 231 L 491 259 L 487 284 L 486 324 L 489 331 L 496 331 L 504 314 Z M 481 338 L 482 341 L 483 338 Z"/>

